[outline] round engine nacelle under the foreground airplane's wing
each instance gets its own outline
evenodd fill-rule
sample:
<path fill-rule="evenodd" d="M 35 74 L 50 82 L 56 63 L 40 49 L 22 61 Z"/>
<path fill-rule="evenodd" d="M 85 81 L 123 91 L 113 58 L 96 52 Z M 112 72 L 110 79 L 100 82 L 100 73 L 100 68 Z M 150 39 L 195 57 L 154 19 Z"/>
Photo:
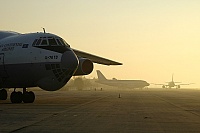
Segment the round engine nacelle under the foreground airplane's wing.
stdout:
<path fill-rule="evenodd" d="M 78 69 L 73 76 L 88 75 L 93 70 L 93 63 L 87 58 L 79 58 Z"/>

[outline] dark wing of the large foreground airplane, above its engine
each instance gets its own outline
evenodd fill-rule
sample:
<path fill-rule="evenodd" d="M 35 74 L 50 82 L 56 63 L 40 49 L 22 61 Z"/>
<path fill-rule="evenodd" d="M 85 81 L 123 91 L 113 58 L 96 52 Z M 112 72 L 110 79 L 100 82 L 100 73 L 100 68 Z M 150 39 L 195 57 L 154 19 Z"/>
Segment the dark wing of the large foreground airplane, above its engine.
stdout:
<path fill-rule="evenodd" d="M 86 52 L 83 52 L 80 50 L 76 50 L 76 49 L 72 49 L 72 50 L 78 57 L 88 58 L 94 63 L 103 64 L 103 65 L 122 65 L 122 63 L 112 61 L 112 60 L 109 60 L 109 59 L 106 59 L 103 57 L 99 57 L 96 55 L 92 55 L 92 54 L 89 54 L 89 53 L 86 53 Z"/>

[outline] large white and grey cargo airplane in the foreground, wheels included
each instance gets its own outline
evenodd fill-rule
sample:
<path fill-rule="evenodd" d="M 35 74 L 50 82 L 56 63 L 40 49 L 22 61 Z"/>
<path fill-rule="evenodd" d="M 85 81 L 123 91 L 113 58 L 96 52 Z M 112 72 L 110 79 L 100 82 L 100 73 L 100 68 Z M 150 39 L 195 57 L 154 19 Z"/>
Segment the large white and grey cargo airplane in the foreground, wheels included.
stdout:
<path fill-rule="evenodd" d="M 93 62 L 122 65 L 72 49 L 64 39 L 45 30 L 28 34 L 0 31 L 0 100 L 7 99 L 7 88 L 14 88 L 12 103 L 32 103 L 35 94 L 26 88 L 59 90 L 72 76 L 90 74 Z M 16 88 L 23 91 L 16 92 Z"/>

